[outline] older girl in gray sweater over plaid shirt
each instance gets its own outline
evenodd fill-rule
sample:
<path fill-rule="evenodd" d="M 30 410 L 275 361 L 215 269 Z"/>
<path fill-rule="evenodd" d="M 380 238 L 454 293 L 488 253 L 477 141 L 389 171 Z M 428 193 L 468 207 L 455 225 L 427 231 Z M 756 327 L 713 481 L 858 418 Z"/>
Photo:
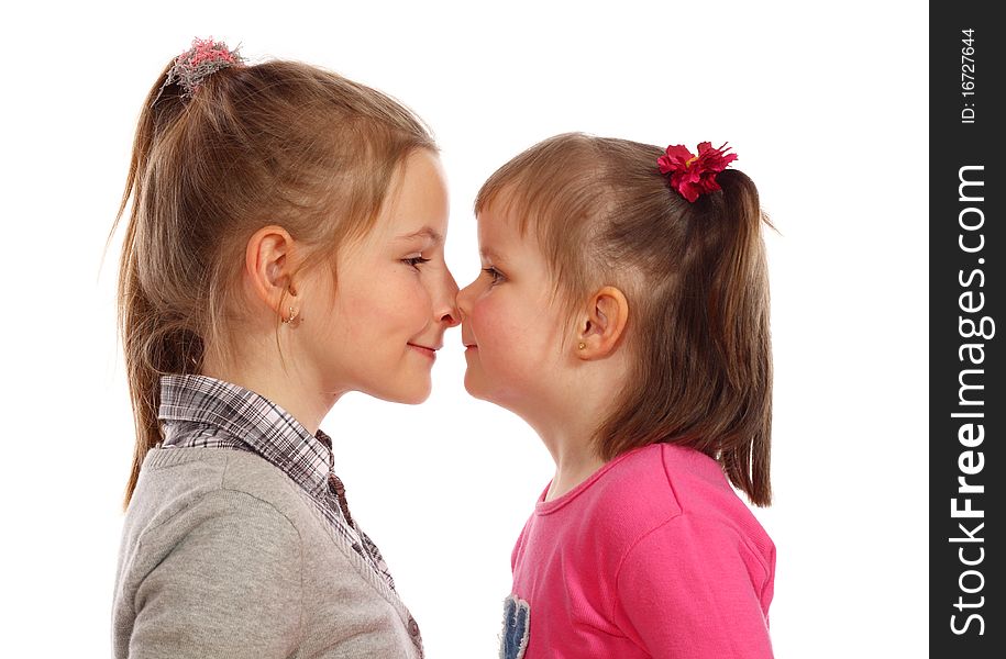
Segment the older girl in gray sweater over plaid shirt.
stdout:
<path fill-rule="evenodd" d="M 429 133 L 338 75 L 197 40 L 144 103 L 130 199 L 115 657 L 421 657 L 318 426 L 347 391 L 423 401 L 456 324 Z"/>

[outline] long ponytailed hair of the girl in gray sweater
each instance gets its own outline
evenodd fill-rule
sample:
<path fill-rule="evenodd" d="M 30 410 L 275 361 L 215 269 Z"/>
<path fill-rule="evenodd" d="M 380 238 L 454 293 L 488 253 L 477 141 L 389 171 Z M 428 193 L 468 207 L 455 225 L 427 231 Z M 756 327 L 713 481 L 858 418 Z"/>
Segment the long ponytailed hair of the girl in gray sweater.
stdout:
<path fill-rule="evenodd" d="M 170 67 L 144 103 L 111 230 L 132 200 L 118 291 L 136 426 L 126 503 L 162 440 L 161 376 L 232 353 L 251 235 L 284 226 L 308 249 L 301 270 L 328 263 L 334 280 L 340 248 L 373 227 L 406 157 L 436 149 L 394 99 L 306 64 L 224 68 L 191 96 L 165 83 Z"/>

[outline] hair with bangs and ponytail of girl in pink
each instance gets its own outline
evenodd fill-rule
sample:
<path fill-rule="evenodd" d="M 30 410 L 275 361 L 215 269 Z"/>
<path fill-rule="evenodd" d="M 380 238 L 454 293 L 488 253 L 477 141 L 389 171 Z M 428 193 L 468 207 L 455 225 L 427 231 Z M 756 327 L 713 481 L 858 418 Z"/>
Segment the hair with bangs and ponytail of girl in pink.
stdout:
<path fill-rule="evenodd" d="M 663 149 L 581 133 L 527 149 L 483 186 L 533 232 L 567 317 L 601 286 L 629 300 L 631 375 L 594 436 L 611 459 L 665 442 L 719 460 L 769 505 L 772 353 L 758 190 L 743 172 L 689 203 L 656 166 Z"/>

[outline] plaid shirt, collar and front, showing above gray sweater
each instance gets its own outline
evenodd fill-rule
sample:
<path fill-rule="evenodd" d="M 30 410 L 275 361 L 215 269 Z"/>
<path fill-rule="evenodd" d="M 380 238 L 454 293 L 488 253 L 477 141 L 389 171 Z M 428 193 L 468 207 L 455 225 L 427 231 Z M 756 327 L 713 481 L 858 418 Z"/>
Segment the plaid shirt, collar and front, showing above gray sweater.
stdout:
<path fill-rule="evenodd" d="M 350 515 L 342 481 L 333 471 L 332 439 L 311 435 L 283 407 L 237 384 L 207 376 L 161 378 L 164 448 L 228 448 L 258 454 L 303 488 L 335 532 L 346 538 L 391 590 L 395 580 L 377 545 Z M 414 630 L 414 633 L 413 633 Z M 409 632 L 418 636 L 414 621 Z"/>

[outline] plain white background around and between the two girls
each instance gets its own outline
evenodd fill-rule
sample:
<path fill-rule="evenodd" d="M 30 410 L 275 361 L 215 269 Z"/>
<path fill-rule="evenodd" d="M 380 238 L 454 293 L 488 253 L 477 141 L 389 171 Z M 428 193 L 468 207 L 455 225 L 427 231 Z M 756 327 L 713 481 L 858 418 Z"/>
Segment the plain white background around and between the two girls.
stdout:
<path fill-rule="evenodd" d="M 928 16 L 917 2 L 36 3 L 0 19 L 0 654 L 106 657 L 132 421 L 104 238 L 144 94 L 192 36 L 401 99 L 452 189 L 447 261 L 478 271 L 485 178 L 572 130 L 729 141 L 770 235 L 780 657 L 927 646 Z M 30 12 L 25 14 L 24 12 Z M 354 516 L 432 658 L 495 657 L 509 556 L 552 463 L 468 398 L 452 330 L 421 406 L 351 394 Z"/>

